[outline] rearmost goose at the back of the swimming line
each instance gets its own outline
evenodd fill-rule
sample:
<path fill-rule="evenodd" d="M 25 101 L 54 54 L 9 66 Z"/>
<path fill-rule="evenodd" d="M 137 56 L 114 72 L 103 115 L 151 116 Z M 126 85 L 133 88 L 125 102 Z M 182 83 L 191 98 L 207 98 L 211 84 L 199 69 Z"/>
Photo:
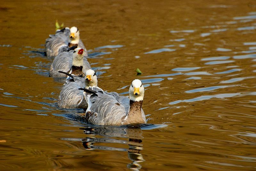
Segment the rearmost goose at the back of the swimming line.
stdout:
<path fill-rule="evenodd" d="M 57 56 L 63 50 L 72 46 L 84 49 L 84 56 L 87 56 L 86 48 L 79 34 L 77 27 L 66 27 L 55 34 L 49 35 L 45 42 L 46 56 Z"/>

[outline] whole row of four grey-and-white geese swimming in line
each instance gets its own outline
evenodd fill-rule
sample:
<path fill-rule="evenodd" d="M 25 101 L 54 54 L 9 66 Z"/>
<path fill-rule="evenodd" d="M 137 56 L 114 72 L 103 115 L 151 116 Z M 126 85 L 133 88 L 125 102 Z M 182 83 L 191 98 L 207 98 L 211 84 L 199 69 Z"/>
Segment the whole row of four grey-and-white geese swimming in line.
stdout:
<path fill-rule="evenodd" d="M 132 81 L 129 98 L 98 87 L 97 76 L 87 61 L 88 53 L 77 27 L 57 30 L 45 42 L 46 55 L 54 57 L 51 77 L 67 77 L 60 91 L 60 108 L 87 108 L 85 119 L 95 125 L 144 124 L 144 87 Z"/>

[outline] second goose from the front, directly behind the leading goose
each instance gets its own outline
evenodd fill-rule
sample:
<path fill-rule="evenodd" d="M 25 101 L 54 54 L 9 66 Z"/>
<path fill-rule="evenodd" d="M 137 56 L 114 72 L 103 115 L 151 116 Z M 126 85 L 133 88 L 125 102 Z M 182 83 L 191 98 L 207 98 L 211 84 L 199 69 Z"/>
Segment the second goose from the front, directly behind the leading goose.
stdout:
<path fill-rule="evenodd" d="M 88 69 L 85 72 L 84 78 L 70 74 L 68 75 L 72 77 L 72 79 L 69 79 L 69 82 L 64 84 L 62 90 L 60 91 L 58 106 L 68 109 L 87 108 L 88 105 L 84 98 L 83 91 L 79 90 L 79 88 L 88 89 L 89 86 L 97 87 L 98 80 L 95 71 Z"/>

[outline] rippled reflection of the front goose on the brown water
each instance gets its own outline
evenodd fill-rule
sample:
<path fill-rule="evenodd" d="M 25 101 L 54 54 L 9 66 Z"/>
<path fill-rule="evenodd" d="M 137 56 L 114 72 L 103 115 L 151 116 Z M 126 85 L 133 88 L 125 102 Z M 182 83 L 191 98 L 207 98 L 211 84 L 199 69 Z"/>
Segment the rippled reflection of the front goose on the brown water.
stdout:
<path fill-rule="evenodd" d="M 166 125 L 164 125 L 166 126 Z M 142 129 L 154 129 L 163 127 L 163 125 L 140 124 L 140 125 L 124 125 L 124 126 L 99 126 L 90 125 L 85 128 L 84 134 L 90 135 L 82 140 L 83 146 L 86 150 L 107 150 L 107 151 L 124 151 L 128 153 L 128 158 L 132 163 L 127 164 L 127 167 L 132 170 L 140 170 L 141 162 L 144 162 L 140 151 L 142 148 Z M 91 136 L 100 135 L 103 138 L 96 138 Z M 114 138 L 128 138 L 128 140 L 114 139 Z M 94 145 L 94 143 L 118 143 L 128 144 L 129 148 L 116 148 L 111 146 Z"/>

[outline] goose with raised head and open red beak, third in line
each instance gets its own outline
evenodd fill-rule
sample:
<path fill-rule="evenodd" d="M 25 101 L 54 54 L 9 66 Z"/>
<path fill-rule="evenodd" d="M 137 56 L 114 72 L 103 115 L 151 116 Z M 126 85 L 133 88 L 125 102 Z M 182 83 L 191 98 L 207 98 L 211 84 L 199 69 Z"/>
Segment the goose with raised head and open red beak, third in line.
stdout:
<path fill-rule="evenodd" d="M 84 49 L 76 48 L 74 51 L 62 52 L 57 55 L 50 68 L 50 77 L 66 77 L 67 75 L 58 71 L 67 72 L 74 75 L 83 75 L 85 71 L 91 69 L 87 59 L 84 57 Z"/>

